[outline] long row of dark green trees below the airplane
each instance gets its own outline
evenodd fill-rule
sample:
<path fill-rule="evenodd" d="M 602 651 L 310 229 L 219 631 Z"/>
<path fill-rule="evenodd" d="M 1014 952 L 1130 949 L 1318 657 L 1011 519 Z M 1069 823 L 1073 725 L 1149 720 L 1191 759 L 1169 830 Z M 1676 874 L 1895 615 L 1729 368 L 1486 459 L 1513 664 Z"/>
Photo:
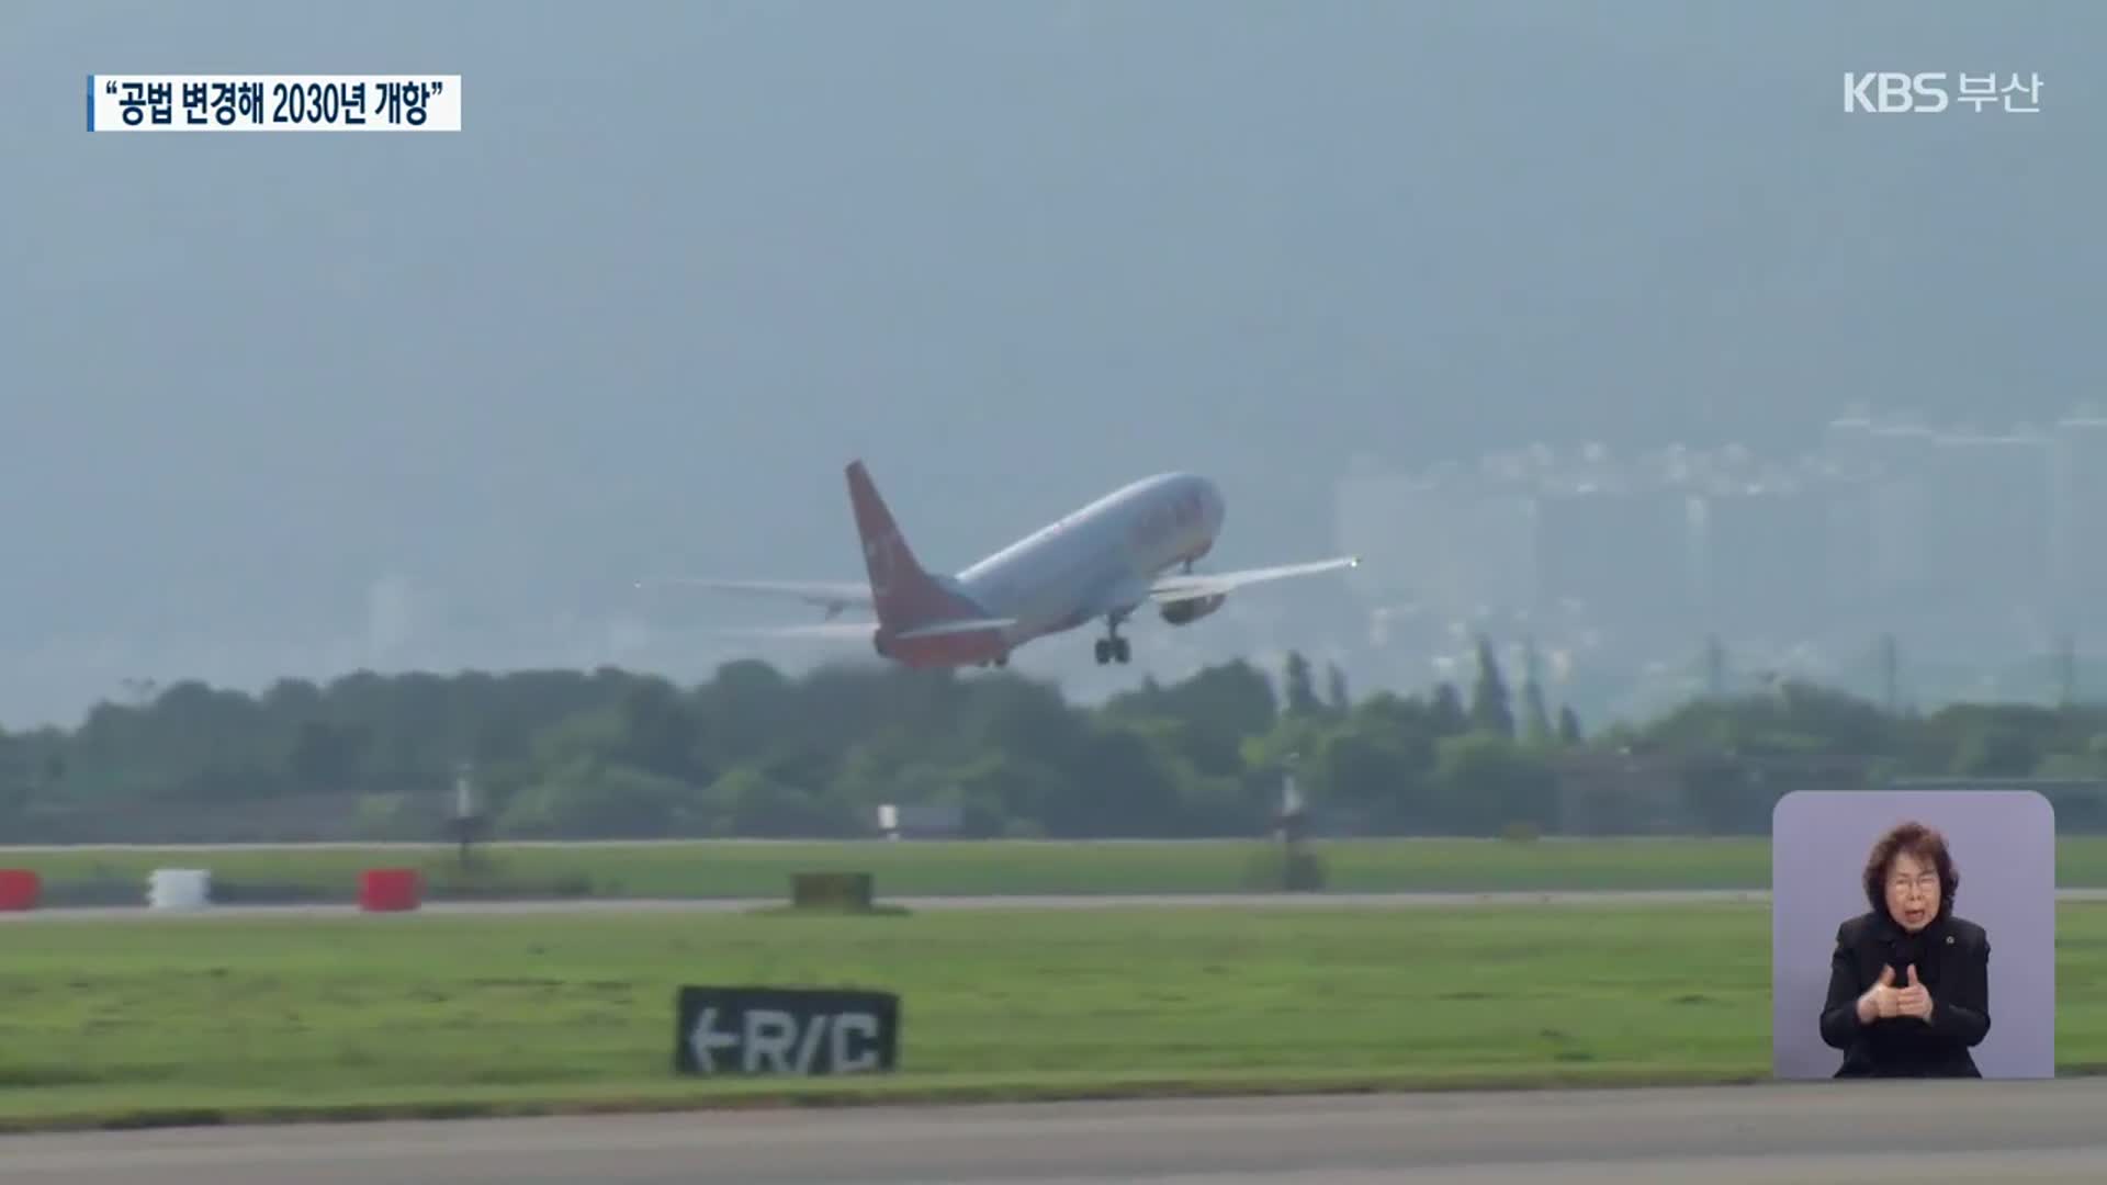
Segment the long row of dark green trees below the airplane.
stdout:
<path fill-rule="evenodd" d="M 1485 641 L 1466 687 L 1355 698 L 1289 656 L 1277 679 L 1228 662 L 1102 706 L 1007 671 L 765 662 L 700 685 L 617 668 L 257 696 L 185 681 L 78 727 L 0 732 L 0 841 L 436 839 L 464 770 L 489 835 L 516 839 L 847 837 L 879 803 L 952 805 L 988 837 L 1262 835 L 1289 772 L 1321 820 L 1370 835 L 1761 833 L 1795 784 L 2107 776 L 2107 711 L 1890 715 L 1780 683 L 1587 736 Z M 1637 797 L 1660 784 L 1673 801 L 1648 816 Z"/>

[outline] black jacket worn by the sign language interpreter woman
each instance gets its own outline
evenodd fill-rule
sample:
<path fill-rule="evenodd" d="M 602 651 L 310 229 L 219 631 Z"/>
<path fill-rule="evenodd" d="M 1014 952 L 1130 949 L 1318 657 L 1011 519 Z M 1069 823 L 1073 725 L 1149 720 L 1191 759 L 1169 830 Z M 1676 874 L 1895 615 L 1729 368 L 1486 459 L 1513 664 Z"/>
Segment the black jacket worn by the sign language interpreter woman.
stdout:
<path fill-rule="evenodd" d="M 1909 987 L 1909 964 L 1932 993 L 1930 1023 L 1915 1016 L 1858 1023 L 1858 997 L 1894 968 Z M 1909 934 L 1888 913 L 1860 913 L 1837 926 L 1829 959 L 1823 1040 L 1844 1050 L 1837 1077 L 1983 1077 L 1972 1046 L 1989 1033 L 1989 934 L 1951 913 Z"/>

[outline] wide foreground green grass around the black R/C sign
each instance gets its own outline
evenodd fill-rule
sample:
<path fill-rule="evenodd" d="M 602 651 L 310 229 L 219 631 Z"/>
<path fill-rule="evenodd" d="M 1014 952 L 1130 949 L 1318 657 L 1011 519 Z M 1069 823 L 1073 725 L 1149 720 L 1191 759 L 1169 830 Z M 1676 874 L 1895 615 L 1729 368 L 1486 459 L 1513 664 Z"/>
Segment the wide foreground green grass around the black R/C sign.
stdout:
<path fill-rule="evenodd" d="M 2059 913 L 2107 1067 L 2107 907 Z M 902 1065 L 681 1080 L 683 983 L 902 993 Z M 1134 1092 L 1747 1082 L 1747 905 L 0 924 L 0 1130 Z"/>

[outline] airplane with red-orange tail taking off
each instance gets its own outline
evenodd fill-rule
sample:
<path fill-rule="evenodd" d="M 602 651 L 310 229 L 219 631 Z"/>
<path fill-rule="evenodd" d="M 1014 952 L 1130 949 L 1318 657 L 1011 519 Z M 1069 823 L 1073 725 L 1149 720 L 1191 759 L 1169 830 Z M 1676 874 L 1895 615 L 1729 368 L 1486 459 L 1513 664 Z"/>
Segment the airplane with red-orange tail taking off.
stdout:
<path fill-rule="evenodd" d="M 1222 533 L 1226 504 L 1205 477 L 1163 472 L 1123 485 L 963 571 L 931 574 L 900 533 L 864 462 L 849 462 L 845 472 L 864 544 L 864 582 L 695 578 L 668 584 L 805 601 L 826 609 L 826 620 L 729 633 L 862 641 L 881 658 L 914 668 L 1007 666 L 1011 652 L 1035 639 L 1102 620 L 1096 656 L 1104 666 L 1131 658 L 1119 626 L 1144 605 L 1157 605 L 1167 624 L 1186 626 L 1220 609 L 1237 588 L 1361 563 L 1336 557 L 1195 574 L 1193 561 L 1212 552 Z M 872 611 L 877 620 L 836 622 L 849 607 Z"/>

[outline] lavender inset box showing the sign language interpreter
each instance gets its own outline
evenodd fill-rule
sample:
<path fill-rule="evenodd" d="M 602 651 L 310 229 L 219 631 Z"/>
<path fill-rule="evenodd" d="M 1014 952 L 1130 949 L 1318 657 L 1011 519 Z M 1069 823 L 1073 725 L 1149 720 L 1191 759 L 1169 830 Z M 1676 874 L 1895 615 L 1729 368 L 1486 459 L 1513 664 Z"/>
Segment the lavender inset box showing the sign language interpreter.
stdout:
<path fill-rule="evenodd" d="M 1785 795 L 1770 894 L 1776 1077 L 2054 1077 L 2056 816 L 2042 795 Z"/>

